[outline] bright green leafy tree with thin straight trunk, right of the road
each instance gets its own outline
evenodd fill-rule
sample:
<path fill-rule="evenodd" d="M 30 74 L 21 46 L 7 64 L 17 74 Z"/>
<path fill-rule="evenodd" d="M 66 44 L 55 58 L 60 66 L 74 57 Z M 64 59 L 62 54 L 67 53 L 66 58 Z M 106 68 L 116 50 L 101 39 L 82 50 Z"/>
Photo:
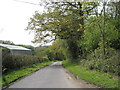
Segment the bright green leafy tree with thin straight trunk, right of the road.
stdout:
<path fill-rule="evenodd" d="M 87 19 L 82 42 L 82 46 L 86 51 L 92 52 L 100 47 L 102 49 L 103 59 L 106 55 L 105 49 L 109 47 L 118 48 L 120 38 L 119 19 L 116 19 L 115 15 L 111 15 L 114 12 L 111 13 L 112 11 L 110 11 L 114 7 L 106 6 L 103 3 L 101 12 L 98 13 L 98 11 L 95 11 L 96 15 Z"/>

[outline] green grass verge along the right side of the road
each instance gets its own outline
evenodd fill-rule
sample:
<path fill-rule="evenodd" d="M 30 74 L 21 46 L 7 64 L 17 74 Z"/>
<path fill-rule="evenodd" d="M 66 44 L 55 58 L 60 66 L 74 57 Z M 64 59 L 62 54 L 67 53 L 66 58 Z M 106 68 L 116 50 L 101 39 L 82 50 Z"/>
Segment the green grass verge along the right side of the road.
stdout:
<path fill-rule="evenodd" d="M 87 69 L 87 67 L 71 64 L 68 63 L 67 61 L 63 61 L 63 65 L 75 76 L 78 76 L 79 78 L 84 79 L 97 86 L 100 86 L 101 88 L 118 89 L 119 80 L 112 73 L 103 73 L 95 70 L 89 70 Z"/>

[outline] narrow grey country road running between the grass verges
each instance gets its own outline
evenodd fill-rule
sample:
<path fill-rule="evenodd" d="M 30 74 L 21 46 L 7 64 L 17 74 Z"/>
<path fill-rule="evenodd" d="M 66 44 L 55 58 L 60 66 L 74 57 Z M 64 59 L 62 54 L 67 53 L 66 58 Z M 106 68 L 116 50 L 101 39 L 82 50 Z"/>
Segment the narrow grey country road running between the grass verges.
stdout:
<path fill-rule="evenodd" d="M 73 79 L 61 65 L 54 62 L 30 76 L 27 76 L 9 88 L 94 88 L 91 85 Z"/>

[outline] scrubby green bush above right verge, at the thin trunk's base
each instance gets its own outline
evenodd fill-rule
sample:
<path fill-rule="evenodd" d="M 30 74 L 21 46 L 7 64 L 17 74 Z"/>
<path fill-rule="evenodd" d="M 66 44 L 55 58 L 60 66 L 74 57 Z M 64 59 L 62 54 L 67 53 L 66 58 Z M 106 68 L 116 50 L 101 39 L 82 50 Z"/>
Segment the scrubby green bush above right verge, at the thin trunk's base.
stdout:
<path fill-rule="evenodd" d="M 103 72 L 111 72 L 120 76 L 120 52 L 114 49 L 106 49 L 105 59 L 102 59 L 101 50 L 96 49 L 92 54 L 90 54 L 86 59 L 81 60 L 80 64 L 86 66 L 88 69 L 98 70 Z"/>

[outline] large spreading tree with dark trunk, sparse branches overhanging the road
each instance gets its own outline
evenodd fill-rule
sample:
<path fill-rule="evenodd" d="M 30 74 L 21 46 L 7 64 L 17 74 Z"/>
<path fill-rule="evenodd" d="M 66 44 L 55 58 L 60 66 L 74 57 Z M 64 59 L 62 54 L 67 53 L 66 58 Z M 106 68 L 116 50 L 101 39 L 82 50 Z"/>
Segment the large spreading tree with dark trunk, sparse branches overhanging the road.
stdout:
<path fill-rule="evenodd" d="M 84 5 L 83 9 L 81 2 L 48 4 L 47 13 L 36 12 L 27 29 L 35 30 L 35 42 L 50 42 L 57 38 L 67 40 L 71 61 L 74 62 L 79 56 L 77 41 L 81 39 L 84 31 L 84 18 L 86 18 L 84 15 L 89 14 L 96 7 L 96 3 L 87 3 L 87 5 L 88 7 Z"/>

